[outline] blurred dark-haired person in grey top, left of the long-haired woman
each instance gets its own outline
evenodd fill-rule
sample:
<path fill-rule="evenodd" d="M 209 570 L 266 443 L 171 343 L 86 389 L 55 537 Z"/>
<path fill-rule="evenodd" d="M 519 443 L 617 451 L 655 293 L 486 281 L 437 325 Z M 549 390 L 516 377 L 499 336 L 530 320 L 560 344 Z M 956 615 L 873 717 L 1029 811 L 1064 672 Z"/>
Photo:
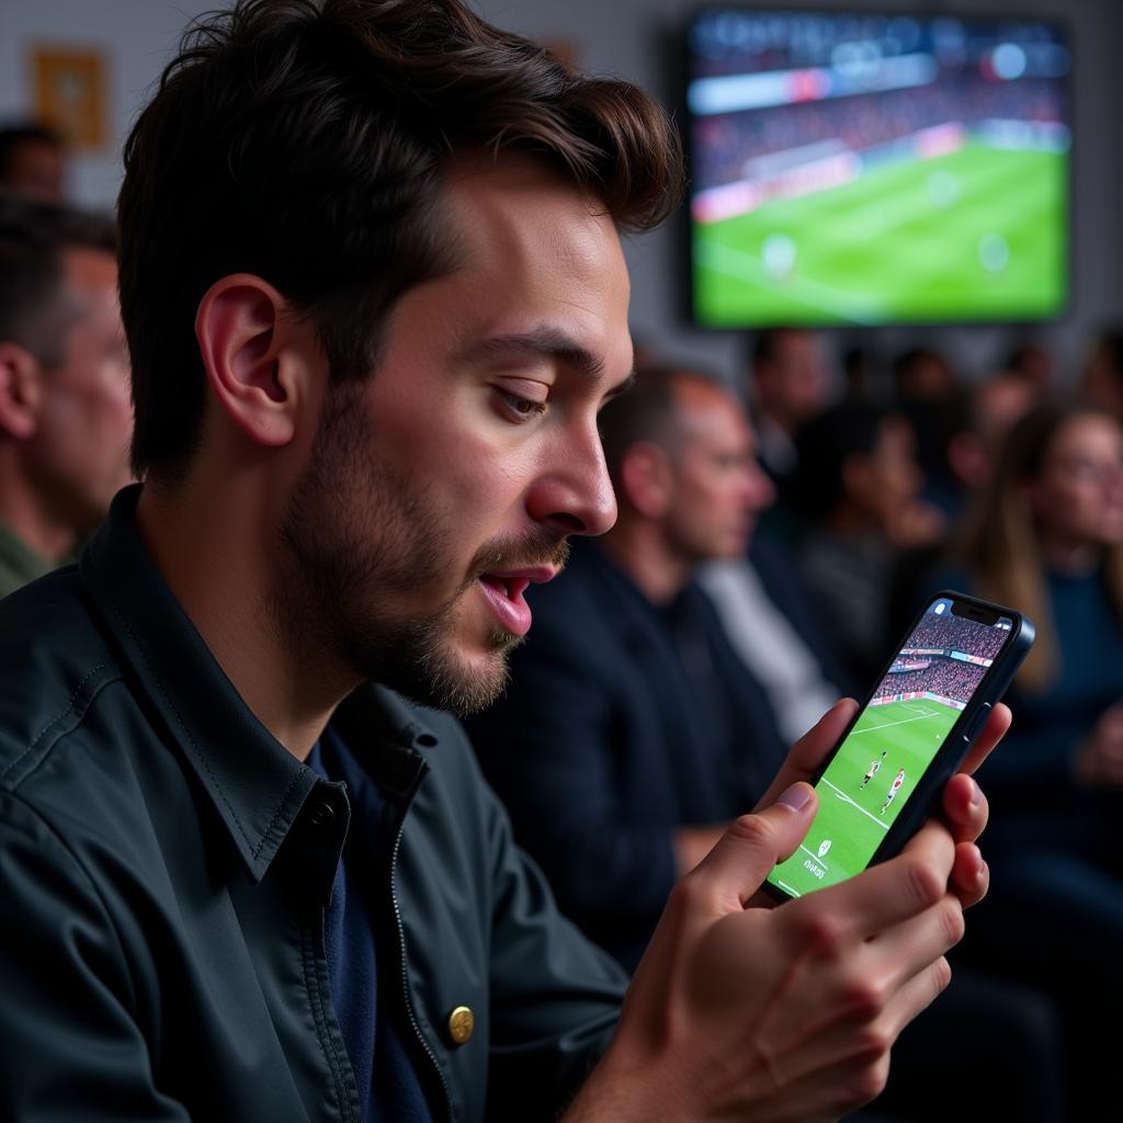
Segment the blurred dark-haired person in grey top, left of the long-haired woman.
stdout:
<path fill-rule="evenodd" d="M 810 529 L 803 572 L 851 670 L 866 681 L 888 645 L 889 590 L 903 550 L 938 542 L 943 515 L 920 499 L 923 476 L 905 419 L 848 402 L 807 424 L 792 500 Z"/>

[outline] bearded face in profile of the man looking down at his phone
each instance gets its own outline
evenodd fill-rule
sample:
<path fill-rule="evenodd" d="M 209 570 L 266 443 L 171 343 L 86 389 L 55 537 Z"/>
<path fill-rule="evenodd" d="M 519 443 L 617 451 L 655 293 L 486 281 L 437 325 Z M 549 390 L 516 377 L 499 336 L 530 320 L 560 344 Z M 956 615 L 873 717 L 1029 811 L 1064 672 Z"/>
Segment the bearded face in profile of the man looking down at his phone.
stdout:
<path fill-rule="evenodd" d="M 596 413 L 631 371 L 612 221 L 537 164 L 469 165 L 459 266 L 410 290 L 373 375 L 328 392 L 275 591 L 355 673 L 468 712 L 505 681 L 528 583 L 615 519 Z"/>

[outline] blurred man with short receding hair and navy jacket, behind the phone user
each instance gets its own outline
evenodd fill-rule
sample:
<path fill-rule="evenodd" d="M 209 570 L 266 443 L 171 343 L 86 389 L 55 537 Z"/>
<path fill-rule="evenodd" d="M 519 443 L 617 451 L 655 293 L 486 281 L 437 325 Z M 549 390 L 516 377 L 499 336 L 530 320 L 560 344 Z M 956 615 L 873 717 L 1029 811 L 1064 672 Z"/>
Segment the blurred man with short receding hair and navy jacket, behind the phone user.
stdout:
<path fill-rule="evenodd" d="M 675 882 L 783 759 L 695 582 L 705 560 L 743 556 L 775 493 L 710 378 L 641 371 L 600 424 L 615 526 L 533 592 L 511 686 L 468 730 L 562 909 L 634 969 Z"/>

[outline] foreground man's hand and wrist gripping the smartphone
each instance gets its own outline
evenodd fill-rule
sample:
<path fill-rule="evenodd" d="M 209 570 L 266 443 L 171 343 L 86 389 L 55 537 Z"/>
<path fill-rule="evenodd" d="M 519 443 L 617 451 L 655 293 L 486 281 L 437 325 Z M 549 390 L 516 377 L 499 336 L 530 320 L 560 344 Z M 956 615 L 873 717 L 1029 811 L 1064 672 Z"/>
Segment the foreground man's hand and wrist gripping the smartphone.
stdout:
<path fill-rule="evenodd" d="M 1008 725 L 996 711 L 966 768 Z M 944 953 L 986 891 L 986 801 L 957 776 L 947 822 L 898 857 L 783 907 L 747 907 L 803 840 L 818 805 L 806 779 L 852 715 L 852 702 L 834 706 L 764 809 L 676 886 L 574 1121 L 833 1120 L 882 1090 L 891 1046 L 947 986 Z"/>

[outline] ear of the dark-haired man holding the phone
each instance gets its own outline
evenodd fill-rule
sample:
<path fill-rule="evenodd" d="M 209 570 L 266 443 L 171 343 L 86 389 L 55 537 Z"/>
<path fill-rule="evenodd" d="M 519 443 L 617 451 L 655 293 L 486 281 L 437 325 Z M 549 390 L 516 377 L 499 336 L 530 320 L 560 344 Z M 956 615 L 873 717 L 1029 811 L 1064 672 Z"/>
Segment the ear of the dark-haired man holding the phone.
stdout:
<path fill-rule="evenodd" d="M 292 440 L 301 389 L 283 354 L 285 299 L 248 273 L 221 277 L 195 314 L 207 381 L 226 414 L 258 445 Z"/>

